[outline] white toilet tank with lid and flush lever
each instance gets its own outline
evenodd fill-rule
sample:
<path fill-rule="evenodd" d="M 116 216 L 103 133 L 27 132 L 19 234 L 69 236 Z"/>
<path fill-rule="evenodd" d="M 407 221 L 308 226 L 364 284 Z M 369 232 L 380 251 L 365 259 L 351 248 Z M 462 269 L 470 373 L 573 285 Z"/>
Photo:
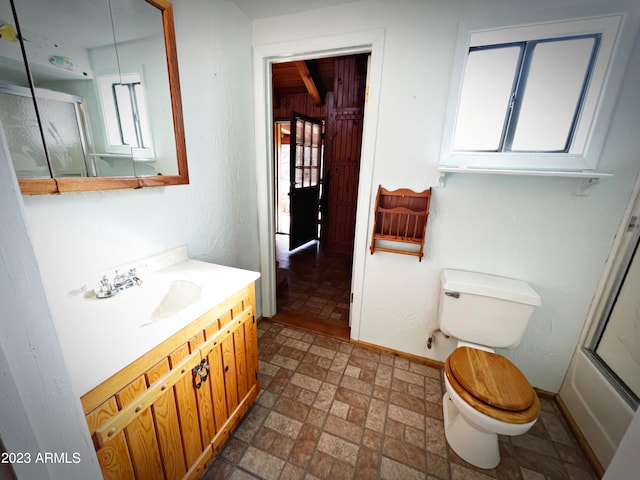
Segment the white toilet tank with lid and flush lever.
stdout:
<path fill-rule="evenodd" d="M 520 344 L 540 295 L 526 282 L 485 273 L 443 270 L 440 330 L 493 348 Z"/>

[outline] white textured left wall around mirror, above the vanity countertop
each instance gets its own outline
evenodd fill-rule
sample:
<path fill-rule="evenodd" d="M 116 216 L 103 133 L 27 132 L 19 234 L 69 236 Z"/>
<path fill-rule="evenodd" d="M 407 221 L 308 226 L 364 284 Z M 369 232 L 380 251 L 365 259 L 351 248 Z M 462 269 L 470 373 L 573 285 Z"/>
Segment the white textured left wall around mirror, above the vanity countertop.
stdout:
<path fill-rule="evenodd" d="M 97 272 L 179 245 L 259 267 L 251 23 L 227 0 L 173 3 L 190 184 L 24 197 L 56 323 L 60 300 Z"/>

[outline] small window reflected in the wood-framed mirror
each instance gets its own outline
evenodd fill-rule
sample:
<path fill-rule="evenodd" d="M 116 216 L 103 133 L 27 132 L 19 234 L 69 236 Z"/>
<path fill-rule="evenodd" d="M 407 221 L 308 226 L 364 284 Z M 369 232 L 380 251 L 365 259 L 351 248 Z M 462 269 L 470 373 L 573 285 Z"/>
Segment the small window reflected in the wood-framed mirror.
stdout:
<path fill-rule="evenodd" d="M 110 153 L 152 157 L 144 89 L 137 73 L 98 79 Z"/>

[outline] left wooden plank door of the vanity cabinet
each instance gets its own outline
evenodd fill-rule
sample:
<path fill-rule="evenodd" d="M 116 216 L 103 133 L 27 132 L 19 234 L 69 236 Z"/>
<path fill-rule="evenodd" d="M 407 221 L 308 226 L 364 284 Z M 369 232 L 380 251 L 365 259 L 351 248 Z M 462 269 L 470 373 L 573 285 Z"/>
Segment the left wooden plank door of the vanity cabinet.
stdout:
<path fill-rule="evenodd" d="M 182 350 L 87 415 L 105 478 L 181 479 L 190 465 L 187 462 L 200 457 L 202 444 L 189 442 L 188 435 L 193 426 L 189 424 L 194 390 L 191 365 L 198 363 L 200 354 L 195 351 L 180 358 Z"/>

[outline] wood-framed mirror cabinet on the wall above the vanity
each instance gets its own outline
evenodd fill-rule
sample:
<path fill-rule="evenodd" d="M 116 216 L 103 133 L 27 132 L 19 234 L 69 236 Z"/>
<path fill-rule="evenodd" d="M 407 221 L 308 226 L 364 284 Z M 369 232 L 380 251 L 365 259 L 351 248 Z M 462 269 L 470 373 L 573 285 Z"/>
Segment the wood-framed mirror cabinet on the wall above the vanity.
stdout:
<path fill-rule="evenodd" d="M 0 0 L 5 25 L 7 6 L 10 0 Z M 0 122 L 22 192 L 188 183 L 171 4 L 13 0 L 13 6 L 16 16 L 9 18 L 23 41 L 0 40 L 0 107 L 35 96 L 35 115 L 0 114 Z M 44 161 L 35 146 L 25 149 L 25 138 L 44 144 Z"/>

